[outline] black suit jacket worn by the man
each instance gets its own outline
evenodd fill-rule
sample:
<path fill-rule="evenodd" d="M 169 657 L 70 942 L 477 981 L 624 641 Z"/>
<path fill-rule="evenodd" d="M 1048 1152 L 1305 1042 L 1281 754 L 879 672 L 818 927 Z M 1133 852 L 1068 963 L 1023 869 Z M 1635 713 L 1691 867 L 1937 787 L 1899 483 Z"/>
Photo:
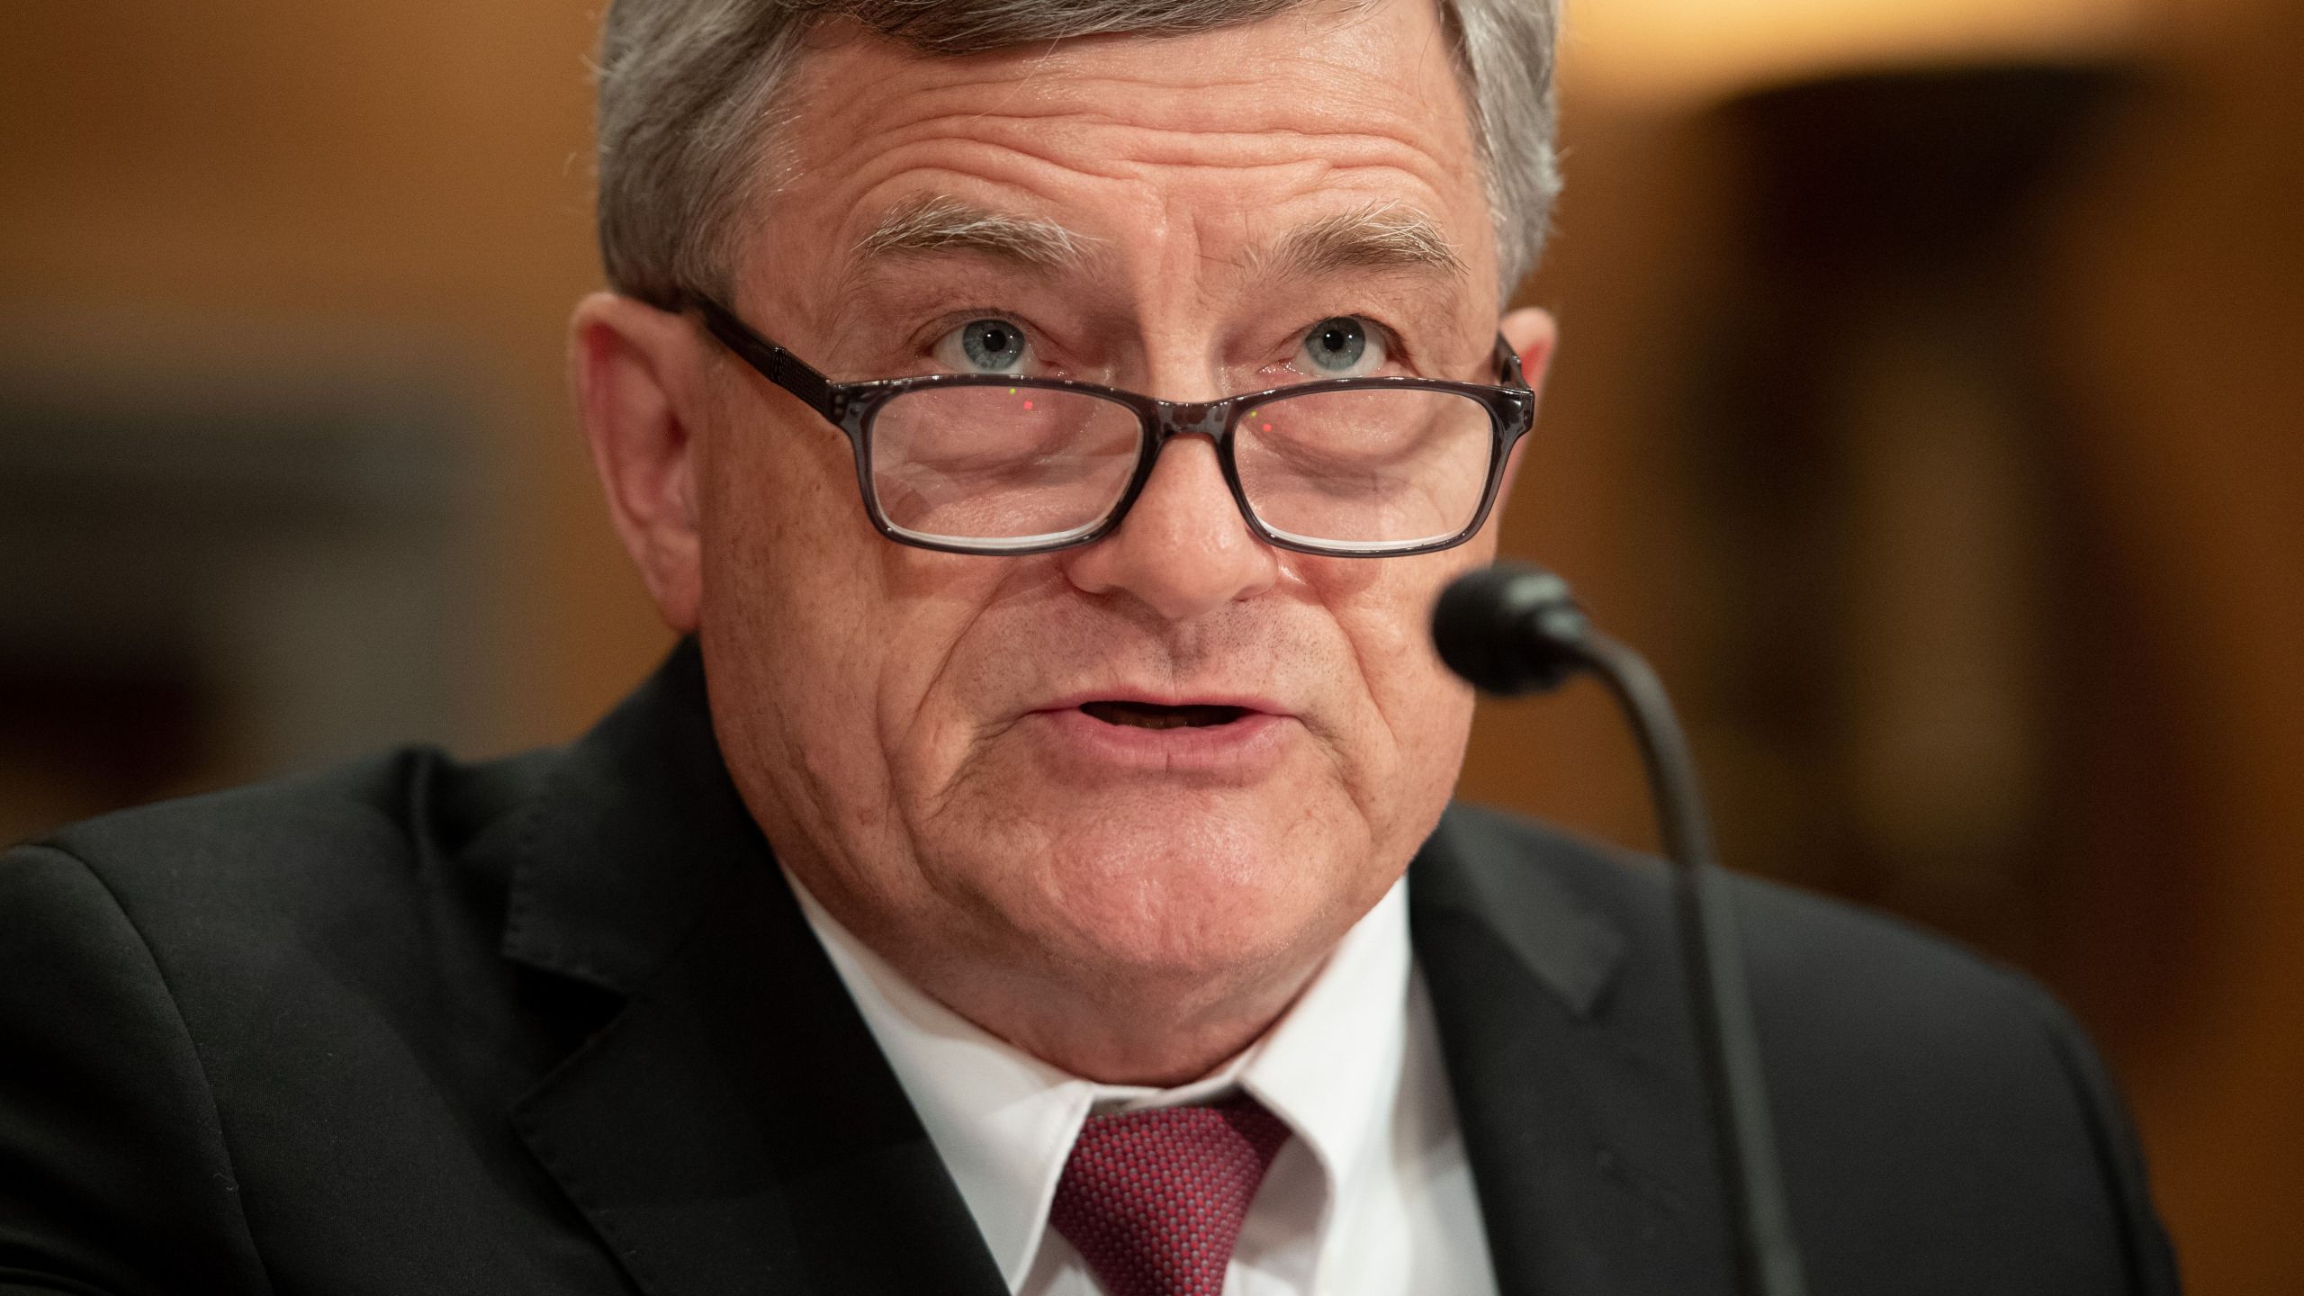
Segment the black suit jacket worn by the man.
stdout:
<path fill-rule="evenodd" d="M 1659 869 L 1454 809 L 1417 957 L 1502 1289 L 1726 1294 Z M 2173 1291 L 2030 982 L 1737 888 L 1820 1296 Z M 737 800 L 687 648 L 567 749 L 410 749 L 0 858 L 0 1291 L 1002 1282 Z"/>

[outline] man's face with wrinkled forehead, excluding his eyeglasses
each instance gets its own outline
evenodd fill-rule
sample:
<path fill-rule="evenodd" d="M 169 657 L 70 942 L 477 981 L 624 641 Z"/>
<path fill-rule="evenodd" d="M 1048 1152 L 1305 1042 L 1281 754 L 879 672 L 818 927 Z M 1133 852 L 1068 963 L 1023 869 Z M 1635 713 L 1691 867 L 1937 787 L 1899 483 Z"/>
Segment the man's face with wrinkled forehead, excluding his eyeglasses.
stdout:
<path fill-rule="evenodd" d="M 1428 2 L 965 60 L 832 30 L 797 83 L 733 304 L 834 378 L 1495 380 L 1491 214 Z M 993 235 L 942 238 L 952 212 Z M 908 549 L 869 526 L 843 436 L 717 364 L 714 724 L 788 867 L 931 992 L 1309 966 L 1433 828 L 1472 699 L 1426 613 L 1491 535 L 1265 547 L 1196 436 L 1087 549 Z"/>

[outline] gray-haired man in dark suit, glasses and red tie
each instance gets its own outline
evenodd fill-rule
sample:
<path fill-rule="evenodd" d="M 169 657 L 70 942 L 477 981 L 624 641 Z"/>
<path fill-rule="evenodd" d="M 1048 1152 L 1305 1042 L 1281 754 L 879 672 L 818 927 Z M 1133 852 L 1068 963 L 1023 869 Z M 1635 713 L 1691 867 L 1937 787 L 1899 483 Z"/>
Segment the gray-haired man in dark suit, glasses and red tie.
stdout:
<path fill-rule="evenodd" d="M 12 853 L 0 1289 L 1730 1291 L 1659 879 L 1442 814 L 1548 51 L 620 0 L 574 374 L 689 641 Z M 2173 1289 L 2046 996 L 1740 899 L 1818 1291 Z"/>

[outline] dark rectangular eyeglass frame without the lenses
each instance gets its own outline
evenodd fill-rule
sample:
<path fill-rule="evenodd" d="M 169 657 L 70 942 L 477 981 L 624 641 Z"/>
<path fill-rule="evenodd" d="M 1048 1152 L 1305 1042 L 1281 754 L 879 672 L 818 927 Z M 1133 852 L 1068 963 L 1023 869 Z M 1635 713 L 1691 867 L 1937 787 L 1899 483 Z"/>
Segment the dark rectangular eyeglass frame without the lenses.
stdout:
<path fill-rule="evenodd" d="M 696 309 L 703 318 L 705 330 L 728 348 L 730 355 L 749 364 L 770 383 L 783 387 L 797 397 L 804 406 L 825 417 L 832 427 L 848 436 L 848 445 L 857 461 L 857 491 L 864 496 L 864 514 L 871 519 L 873 530 L 894 540 L 896 544 L 910 544 L 915 549 L 935 549 L 942 553 L 982 553 L 982 556 L 1005 556 L 1021 558 L 1030 553 L 1055 553 L 1060 549 L 1081 549 L 1104 540 L 1106 535 L 1120 530 L 1120 523 L 1129 517 L 1136 505 L 1136 496 L 1143 493 L 1145 482 L 1152 480 L 1152 468 L 1159 466 L 1159 452 L 1180 436 L 1207 436 L 1217 445 L 1217 464 L 1223 470 L 1223 484 L 1233 491 L 1233 503 L 1240 507 L 1240 517 L 1246 519 L 1249 530 L 1265 544 L 1279 549 L 1293 549 L 1297 553 L 1320 553 L 1329 558 L 1410 558 L 1415 553 L 1438 553 L 1442 549 L 1454 549 L 1465 540 L 1479 535 L 1479 528 L 1488 521 L 1488 512 L 1495 510 L 1495 496 L 1505 487 L 1505 466 L 1511 461 L 1511 447 L 1528 436 L 1537 417 L 1537 394 L 1528 387 L 1521 374 L 1521 357 L 1514 355 L 1511 346 L 1498 334 L 1495 339 L 1495 367 L 1505 378 L 1502 385 L 1491 383 L 1456 383 L 1449 378 L 1316 378 L 1311 383 L 1295 383 L 1288 387 L 1267 387 L 1263 392 L 1242 392 L 1237 397 L 1223 397 L 1219 401 L 1161 401 L 1159 397 L 1145 397 L 1140 392 L 1129 392 L 1124 387 L 1106 387 L 1101 383 L 1081 383 L 1076 378 L 1023 378 L 1007 374 L 922 374 L 915 378 L 873 378 L 864 383 L 834 383 L 818 374 L 809 362 L 799 360 L 783 346 L 760 337 L 751 325 L 746 325 L 735 311 L 719 304 L 705 293 L 689 293 L 687 304 Z M 1030 542 L 1030 544 L 1000 544 L 995 540 L 945 540 L 929 537 L 919 533 L 903 530 L 894 526 L 885 512 L 880 512 L 880 493 L 871 484 L 871 431 L 873 420 L 880 408 L 892 399 L 924 392 L 935 387 L 1032 387 L 1044 392 L 1076 392 L 1083 397 L 1099 397 L 1117 406 L 1127 406 L 1138 420 L 1138 454 L 1136 470 L 1129 477 L 1127 489 L 1120 500 L 1111 507 L 1101 523 L 1081 533 L 1064 535 L 1062 540 Z M 1470 397 L 1488 410 L 1488 480 L 1479 491 L 1479 507 L 1472 512 L 1472 521 L 1465 523 L 1456 535 L 1442 540 L 1410 542 L 1410 544 L 1343 544 L 1343 542 L 1316 542 L 1295 540 L 1283 533 L 1274 533 L 1260 517 L 1256 517 L 1256 505 L 1249 503 L 1246 489 L 1240 484 L 1240 466 L 1233 461 L 1233 431 L 1240 427 L 1242 410 L 1256 408 L 1263 401 L 1309 397 L 1320 392 L 1454 392 L 1458 397 Z"/>

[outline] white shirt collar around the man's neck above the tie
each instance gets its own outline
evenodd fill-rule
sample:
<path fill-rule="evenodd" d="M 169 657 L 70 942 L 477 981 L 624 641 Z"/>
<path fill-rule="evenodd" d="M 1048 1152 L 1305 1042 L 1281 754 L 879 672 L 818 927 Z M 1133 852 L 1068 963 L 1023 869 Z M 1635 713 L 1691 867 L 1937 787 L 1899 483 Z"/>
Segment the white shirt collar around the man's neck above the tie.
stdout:
<path fill-rule="evenodd" d="M 841 927 L 799 879 L 790 883 L 1009 1289 L 1032 1271 L 1064 1158 L 1092 1112 L 1249 1091 L 1313 1151 L 1327 1188 L 1322 1231 L 1385 1146 L 1405 1047 L 1405 881 L 1346 932 L 1272 1031 L 1212 1075 L 1175 1088 L 1097 1084 L 1025 1054 L 915 987 Z"/>

